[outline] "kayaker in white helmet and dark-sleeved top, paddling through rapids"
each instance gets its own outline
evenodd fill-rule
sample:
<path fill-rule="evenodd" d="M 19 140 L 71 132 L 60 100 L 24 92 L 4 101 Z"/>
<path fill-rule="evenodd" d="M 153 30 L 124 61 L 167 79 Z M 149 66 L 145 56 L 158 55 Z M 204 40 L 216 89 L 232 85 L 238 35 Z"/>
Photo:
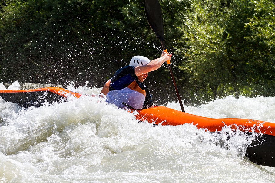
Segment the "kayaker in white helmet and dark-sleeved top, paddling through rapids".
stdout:
<path fill-rule="evenodd" d="M 147 109 L 153 107 L 151 94 L 143 84 L 148 73 L 157 70 L 172 54 L 162 52 L 161 57 L 150 61 L 143 56 L 134 56 L 128 66 L 118 69 L 101 90 L 106 96 L 106 102 L 118 108 Z"/>

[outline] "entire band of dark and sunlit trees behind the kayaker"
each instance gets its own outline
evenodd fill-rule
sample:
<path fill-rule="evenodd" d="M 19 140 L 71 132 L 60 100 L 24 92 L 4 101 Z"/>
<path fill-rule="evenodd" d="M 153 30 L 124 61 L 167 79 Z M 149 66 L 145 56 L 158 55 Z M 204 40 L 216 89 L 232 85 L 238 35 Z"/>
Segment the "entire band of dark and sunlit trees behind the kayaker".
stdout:
<path fill-rule="evenodd" d="M 275 96 L 272 0 L 162 0 L 165 43 L 186 104 Z M 134 55 L 161 55 L 142 0 L 8 0 L 0 7 L 0 82 L 102 87 Z M 166 66 L 145 81 L 176 100 Z"/>

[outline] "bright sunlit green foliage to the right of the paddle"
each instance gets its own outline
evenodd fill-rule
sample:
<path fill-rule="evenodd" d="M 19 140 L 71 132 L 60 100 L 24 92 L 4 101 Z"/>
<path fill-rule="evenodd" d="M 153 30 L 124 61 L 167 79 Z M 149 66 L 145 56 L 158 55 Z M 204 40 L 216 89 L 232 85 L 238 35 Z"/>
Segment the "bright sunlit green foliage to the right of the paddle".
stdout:
<path fill-rule="evenodd" d="M 274 96 L 274 8 L 267 0 L 191 2 L 177 45 L 190 100 Z"/>

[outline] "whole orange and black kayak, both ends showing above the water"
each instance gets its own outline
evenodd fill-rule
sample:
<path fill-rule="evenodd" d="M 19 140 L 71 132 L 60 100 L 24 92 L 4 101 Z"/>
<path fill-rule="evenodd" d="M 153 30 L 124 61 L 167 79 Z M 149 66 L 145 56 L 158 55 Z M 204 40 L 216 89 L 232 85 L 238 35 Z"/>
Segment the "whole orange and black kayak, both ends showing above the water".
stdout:
<path fill-rule="evenodd" d="M 81 96 L 63 88 L 46 87 L 32 90 L 0 90 L 0 96 L 5 101 L 17 103 L 22 107 L 41 106 L 44 103 L 53 103 L 66 100 L 68 95 L 77 98 Z M 156 125 L 194 124 L 198 129 L 208 132 L 219 132 L 224 126 L 239 129 L 247 134 L 256 132 L 256 136 L 246 150 L 247 158 L 263 166 L 275 167 L 275 123 L 252 119 L 222 118 L 214 119 L 184 113 L 164 106 L 151 109 L 137 110 L 136 119 Z"/>

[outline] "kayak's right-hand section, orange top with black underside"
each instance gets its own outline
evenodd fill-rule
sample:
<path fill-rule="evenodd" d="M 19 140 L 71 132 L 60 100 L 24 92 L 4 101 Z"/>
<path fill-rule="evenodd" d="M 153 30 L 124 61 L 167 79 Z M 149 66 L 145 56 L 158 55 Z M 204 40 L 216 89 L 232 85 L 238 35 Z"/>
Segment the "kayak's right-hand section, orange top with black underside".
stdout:
<path fill-rule="evenodd" d="M 248 134 L 252 131 L 262 133 L 252 140 L 250 146 L 247 147 L 245 156 L 258 165 L 275 167 L 275 123 L 252 119 L 206 118 L 164 106 L 138 110 L 137 112 L 136 119 L 146 120 L 157 125 L 193 123 L 198 129 L 205 129 L 210 132 L 218 132 L 224 126 L 231 126 L 232 129 L 238 128 Z"/>

